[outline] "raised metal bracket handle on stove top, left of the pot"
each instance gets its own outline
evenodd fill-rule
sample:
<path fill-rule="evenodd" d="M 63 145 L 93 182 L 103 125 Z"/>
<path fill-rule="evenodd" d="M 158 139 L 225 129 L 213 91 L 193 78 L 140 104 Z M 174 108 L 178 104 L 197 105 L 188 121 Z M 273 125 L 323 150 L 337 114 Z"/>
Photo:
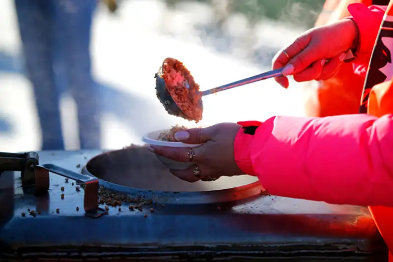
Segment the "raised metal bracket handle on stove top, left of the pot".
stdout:
<path fill-rule="evenodd" d="M 54 164 L 35 166 L 35 187 L 37 191 L 49 189 L 49 172 L 61 175 L 84 184 L 84 211 L 89 217 L 100 217 L 105 210 L 98 207 L 98 179 L 93 176 L 75 173 Z"/>

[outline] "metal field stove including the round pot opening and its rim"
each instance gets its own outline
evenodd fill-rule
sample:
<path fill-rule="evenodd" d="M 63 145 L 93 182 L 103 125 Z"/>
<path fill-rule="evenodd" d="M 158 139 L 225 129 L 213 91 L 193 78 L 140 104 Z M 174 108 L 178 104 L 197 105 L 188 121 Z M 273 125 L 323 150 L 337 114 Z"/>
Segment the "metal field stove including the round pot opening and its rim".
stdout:
<path fill-rule="evenodd" d="M 52 163 L 78 173 L 84 169 L 85 174 L 100 178 L 101 190 L 114 190 L 102 193 L 100 206 L 108 212 L 96 218 L 85 215 L 84 189 L 71 179 L 51 173 L 47 194 L 35 196 L 22 190 L 19 172 L 3 173 L 3 258 L 387 261 L 386 246 L 365 207 L 266 195 L 246 176 L 233 180 L 238 188 L 227 189 L 229 180 L 221 178 L 208 188 L 191 186 L 169 178 L 151 153 L 138 153 L 140 160 L 127 162 L 121 158 L 128 153 L 117 152 L 94 158 L 85 167 L 102 151 L 38 152 L 41 165 Z M 121 161 L 105 162 L 113 156 Z M 148 174 L 168 178 L 149 177 L 147 169 L 156 170 Z M 4 186 L 10 177 L 13 192 Z M 152 188 L 130 188 L 138 183 Z M 118 197 L 116 191 L 121 192 Z M 7 199 L 10 194 L 11 200 Z M 130 198 L 135 194 L 141 199 Z"/>

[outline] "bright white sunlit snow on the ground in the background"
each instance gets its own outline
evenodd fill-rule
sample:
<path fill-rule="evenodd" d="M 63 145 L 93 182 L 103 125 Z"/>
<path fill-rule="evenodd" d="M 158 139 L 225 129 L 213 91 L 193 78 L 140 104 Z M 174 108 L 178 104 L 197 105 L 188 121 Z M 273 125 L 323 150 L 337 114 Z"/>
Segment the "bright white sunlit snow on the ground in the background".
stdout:
<path fill-rule="evenodd" d="M 103 6 L 97 9 L 92 29 L 93 76 L 124 100 L 122 103 L 107 101 L 113 104 L 113 108 L 102 116 L 104 147 L 112 149 L 140 144 L 141 136 L 147 131 L 167 128 L 175 123 L 190 125 L 185 120 L 168 116 L 155 96 L 154 73 L 166 57 L 183 61 L 201 89 L 270 69 L 268 63 L 255 64 L 239 58 L 236 50 L 240 47 L 219 53 L 212 46 L 204 45 L 206 35 L 196 29 L 196 25 L 207 27 L 212 21 L 209 8 L 188 3 L 176 11 L 169 11 L 160 0 L 128 0 L 115 16 Z M 12 0 L 0 1 L 0 17 L 1 63 L 1 59 L 20 56 L 21 43 Z M 247 22 L 239 21 L 245 20 L 239 15 L 230 19 L 229 33 L 238 36 L 237 43 L 242 44 L 242 39 L 249 35 L 244 33 Z M 254 44 L 266 50 L 278 50 L 299 32 L 301 29 L 268 21 L 252 31 Z M 11 59 L 9 64 L 22 67 L 20 59 Z M 0 118 L 6 119 L 3 126 L 0 125 L 1 130 L 6 130 L 0 131 L 0 151 L 39 149 L 39 126 L 32 99 L 31 86 L 24 75 L 0 69 Z M 304 114 L 300 88 L 293 83 L 285 90 L 274 80 L 206 96 L 203 105 L 201 125 Z M 63 99 L 63 130 L 68 149 L 78 148 L 74 107 L 71 99 Z"/>

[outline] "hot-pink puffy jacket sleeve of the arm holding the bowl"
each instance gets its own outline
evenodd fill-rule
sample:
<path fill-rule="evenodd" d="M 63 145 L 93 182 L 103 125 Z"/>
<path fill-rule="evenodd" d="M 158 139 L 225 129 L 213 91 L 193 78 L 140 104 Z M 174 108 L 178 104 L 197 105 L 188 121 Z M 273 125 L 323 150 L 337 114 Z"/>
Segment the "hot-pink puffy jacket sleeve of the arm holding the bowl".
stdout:
<path fill-rule="evenodd" d="M 241 128 L 234 150 L 273 195 L 393 206 L 393 115 L 275 116 L 253 135 Z"/>

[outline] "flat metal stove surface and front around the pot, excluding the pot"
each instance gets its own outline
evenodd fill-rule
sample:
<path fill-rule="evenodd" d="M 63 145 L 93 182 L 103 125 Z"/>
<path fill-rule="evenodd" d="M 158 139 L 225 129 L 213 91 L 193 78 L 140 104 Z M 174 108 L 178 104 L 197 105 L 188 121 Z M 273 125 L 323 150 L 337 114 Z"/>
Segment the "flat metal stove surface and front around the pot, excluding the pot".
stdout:
<path fill-rule="evenodd" d="M 39 155 L 40 164 L 80 172 L 99 153 Z M 23 192 L 16 173 L 13 217 L 0 229 L 3 259 L 386 261 L 366 208 L 262 196 L 227 204 L 152 204 L 141 211 L 123 203 L 93 219 L 82 209 L 84 190 L 72 182 L 50 174 L 48 193 L 36 197 Z"/>

